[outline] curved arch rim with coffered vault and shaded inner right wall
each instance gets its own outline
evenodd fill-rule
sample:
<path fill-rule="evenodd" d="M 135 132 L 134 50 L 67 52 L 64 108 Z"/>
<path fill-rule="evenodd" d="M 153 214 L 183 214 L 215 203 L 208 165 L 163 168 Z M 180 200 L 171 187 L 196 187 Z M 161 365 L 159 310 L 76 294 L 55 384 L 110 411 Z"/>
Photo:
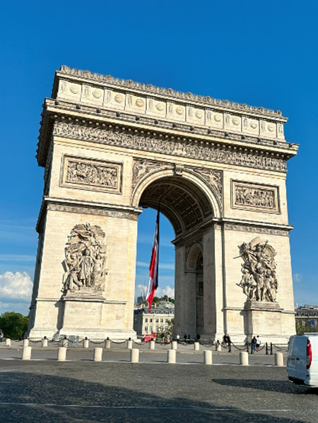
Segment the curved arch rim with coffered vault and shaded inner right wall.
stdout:
<path fill-rule="evenodd" d="M 210 266 L 204 273 L 203 239 L 214 232 L 213 206 L 220 213 L 215 194 L 194 172 L 153 172 L 146 174 L 139 185 L 142 189 L 136 186 L 133 197 L 136 205 L 158 210 L 160 204 L 160 212 L 175 230 L 175 330 L 192 337 L 197 333 L 211 335 L 216 331 L 216 306 L 204 303 L 203 292 L 204 285 L 206 292 L 216 291 L 216 269 Z M 214 328 L 204 325 L 204 314 L 209 315 L 207 321 L 213 318 Z"/>

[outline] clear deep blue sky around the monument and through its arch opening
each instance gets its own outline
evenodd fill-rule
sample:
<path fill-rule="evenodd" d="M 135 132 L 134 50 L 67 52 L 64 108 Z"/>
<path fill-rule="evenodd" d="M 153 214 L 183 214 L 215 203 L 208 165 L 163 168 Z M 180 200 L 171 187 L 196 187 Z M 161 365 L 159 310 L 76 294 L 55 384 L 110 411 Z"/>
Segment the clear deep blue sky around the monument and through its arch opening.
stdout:
<path fill-rule="evenodd" d="M 26 312 L 42 197 L 35 150 L 41 105 L 61 64 L 199 95 L 281 109 L 295 302 L 317 292 L 317 14 L 315 1 L 15 1 L 1 6 L 0 313 Z M 136 283 L 148 278 L 154 213 L 139 222 Z M 149 233 L 149 227 L 151 228 Z M 174 249 L 163 220 L 160 285 Z"/>

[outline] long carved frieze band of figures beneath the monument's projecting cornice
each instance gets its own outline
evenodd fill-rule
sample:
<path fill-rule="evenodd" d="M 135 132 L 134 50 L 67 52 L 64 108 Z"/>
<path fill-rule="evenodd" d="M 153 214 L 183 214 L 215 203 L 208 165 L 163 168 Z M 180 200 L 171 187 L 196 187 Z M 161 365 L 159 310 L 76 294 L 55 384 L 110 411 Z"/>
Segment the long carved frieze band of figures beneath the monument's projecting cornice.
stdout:
<path fill-rule="evenodd" d="M 54 136 L 92 141 L 135 150 L 146 150 L 179 157 L 189 157 L 228 165 L 256 167 L 259 169 L 286 171 L 285 160 L 261 153 L 244 152 L 220 148 L 211 144 L 198 144 L 193 140 L 173 141 L 160 136 L 142 136 L 119 131 L 111 131 L 100 126 L 81 125 L 74 122 L 56 121 Z"/>

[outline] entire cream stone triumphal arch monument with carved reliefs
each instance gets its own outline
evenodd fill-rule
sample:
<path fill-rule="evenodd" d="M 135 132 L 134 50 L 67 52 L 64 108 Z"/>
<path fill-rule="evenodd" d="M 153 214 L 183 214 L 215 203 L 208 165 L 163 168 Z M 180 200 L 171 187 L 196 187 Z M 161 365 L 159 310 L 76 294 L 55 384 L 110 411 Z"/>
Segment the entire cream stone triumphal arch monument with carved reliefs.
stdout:
<path fill-rule="evenodd" d="M 135 337 L 137 225 L 175 230 L 175 332 L 233 342 L 295 333 L 281 112 L 61 66 L 45 168 L 32 339 Z"/>

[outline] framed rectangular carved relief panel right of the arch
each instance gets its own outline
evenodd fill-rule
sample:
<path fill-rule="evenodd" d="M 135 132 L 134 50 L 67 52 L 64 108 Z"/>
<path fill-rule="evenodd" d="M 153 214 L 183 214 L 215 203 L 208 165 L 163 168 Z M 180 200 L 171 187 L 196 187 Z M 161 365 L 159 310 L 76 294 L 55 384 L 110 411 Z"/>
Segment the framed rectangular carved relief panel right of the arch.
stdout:
<path fill-rule="evenodd" d="M 232 208 L 279 213 L 278 186 L 232 182 Z"/>

